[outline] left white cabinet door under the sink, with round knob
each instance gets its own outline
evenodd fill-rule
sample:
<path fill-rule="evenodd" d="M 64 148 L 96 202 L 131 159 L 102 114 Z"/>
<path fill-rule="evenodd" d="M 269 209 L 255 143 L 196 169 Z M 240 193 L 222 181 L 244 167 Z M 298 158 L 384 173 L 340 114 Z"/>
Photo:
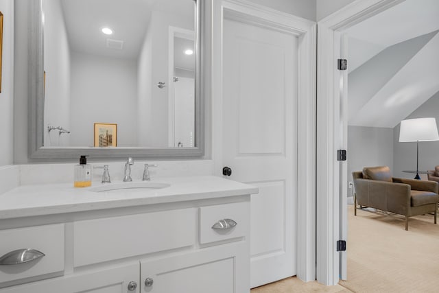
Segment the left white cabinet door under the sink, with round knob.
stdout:
<path fill-rule="evenodd" d="M 129 290 L 131 281 L 137 288 Z M 0 289 L 0 293 L 139 293 L 139 263 Z"/>

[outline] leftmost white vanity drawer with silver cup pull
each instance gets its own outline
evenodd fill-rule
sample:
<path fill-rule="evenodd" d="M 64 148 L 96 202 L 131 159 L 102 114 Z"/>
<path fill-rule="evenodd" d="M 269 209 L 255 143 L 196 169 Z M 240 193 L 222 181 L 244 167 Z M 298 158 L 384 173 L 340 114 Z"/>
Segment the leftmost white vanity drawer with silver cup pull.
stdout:
<path fill-rule="evenodd" d="M 0 266 L 1 283 L 64 270 L 64 224 L 15 228 L 0 231 L 0 257 L 14 250 L 30 248 L 43 257 Z"/>

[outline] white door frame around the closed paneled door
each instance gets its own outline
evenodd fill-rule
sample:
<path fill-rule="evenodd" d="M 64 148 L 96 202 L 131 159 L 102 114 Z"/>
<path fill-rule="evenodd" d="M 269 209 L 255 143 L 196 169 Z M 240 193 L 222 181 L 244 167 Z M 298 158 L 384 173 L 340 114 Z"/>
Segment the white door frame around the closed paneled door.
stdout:
<path fill-rule="evenodd" d="M 316 23 L 245 0 L 210 0 L 212 12 L 211 114 L 214 174 L 222 176 L 222 33 L 224 19 L 239 19 L 298 37 L 296 271 L 316 279 Z"/>

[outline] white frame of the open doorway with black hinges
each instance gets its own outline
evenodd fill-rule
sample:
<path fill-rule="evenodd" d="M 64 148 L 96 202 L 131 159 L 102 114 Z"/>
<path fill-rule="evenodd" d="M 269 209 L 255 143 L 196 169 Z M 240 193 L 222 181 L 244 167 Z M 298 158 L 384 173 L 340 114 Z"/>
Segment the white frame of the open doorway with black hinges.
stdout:
<path fill-rule="evenodd" d="M 405 0 L 356 0 L 344 8 L 318 21 L 317 51 L 317 281 L 324 285 L 335 285 L 346 267 L 340 266 L 340 253 L 336 243 L 340 239 L 340 189 L 344 194 L 348 174 L 340 167 L 337 150 L 346 148 L 347 134 L 342 137 L 340 125 L 346 120 L 346 104 L 340 107 L 344 91 L 340 89 L 341 71 L 337 70 L 337 59 L 346 46 L 341 45 L 341 33 L 365 19 L 370 18 Z M 346 84 L 344 85 L 346 86 Z M 341 110 L 345 109 L 345 110 Z M 347 121 L 347 120 L 346 120 Z M 346 163 L 346 162 L 345 162 Z M 342 172 L 340 172 L 342 169 Z M 343 220 L 342 220 L 343 221 Z M 344 239 L 347 240 L 347 239 Z M 348 249 L 348 248 L 347 248 Z M 346 253 L 342 253 L 346 261 Z M 341 269 L 341 271 L 340 271 Z"/>

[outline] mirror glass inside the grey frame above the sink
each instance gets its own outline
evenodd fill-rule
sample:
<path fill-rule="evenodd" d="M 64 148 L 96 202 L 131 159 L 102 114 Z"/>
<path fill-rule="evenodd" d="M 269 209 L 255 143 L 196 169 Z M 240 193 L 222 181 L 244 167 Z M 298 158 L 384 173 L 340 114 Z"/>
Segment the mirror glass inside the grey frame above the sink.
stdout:
<path fill-rule="evenodd" d="M 44 146 L 194 147 L 194 20 L 193 0 L 43 0 Z"/>

